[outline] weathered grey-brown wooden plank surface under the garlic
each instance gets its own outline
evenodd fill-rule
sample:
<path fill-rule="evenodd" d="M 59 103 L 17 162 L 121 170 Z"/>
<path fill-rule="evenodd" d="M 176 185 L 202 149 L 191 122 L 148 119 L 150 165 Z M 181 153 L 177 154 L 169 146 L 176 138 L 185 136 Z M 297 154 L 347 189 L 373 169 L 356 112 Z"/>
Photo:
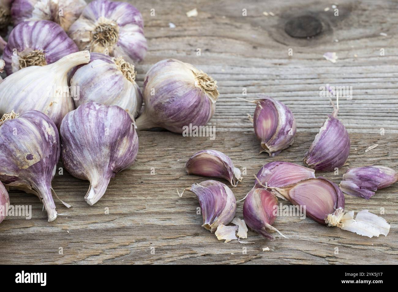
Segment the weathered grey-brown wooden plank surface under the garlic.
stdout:
<path fill-rule="evenodd" d="M 182 137 L 167 131 L 139 132 L 137 161 L 111 180 L 107 193 L 94 206 L 84 201 L 88 182 L 66 171 L 57 174 L 53 188 L 73 206 L 67 209 L 57 201 L 60 215 L 54 222 L 47 222 L 37 197 L 11 191 L 11 204 L 32 205 L 33 217 L 8 217 L 0 224 L 0 263 L 398 263 L 398 183 L 377 191 L 369 201 L 345 196 L 346 209 L 355 213 L 369 209 L 379 215 L 384 208 L 381 216 L 391 224 L 386 237 L 367 238 L 310 219 L 278 217 L 274 226 L 289 239 L 277 237 L 270 242 L 249 232 L 247 241 L 254 244 L 218 241 L 201 227 L 195 196 L 185 193 L 180 198 L 176 192 L 207 179 L 188 176 L 184 170 L 187 159 L 202 149 L 222 151 L 235 166 L 247 168 L 243 182 L 232 189 L 237 199 L 250 190 L 253 174 L 263 164 L 278 160 L 302 164 L 304 153 L 331 112 L 328 101 L 319 96 L 319 87 L 326 83 L 353 88 L 353 99 L 341 100 L 339 112 L 350 133 L 351 152 L 349 166 L 342 167 L 338 175 L 317 175 L 339 183 L 348 167 L 381 164 L 398 170 L 398 4 L 344 1 L 338 5 L 339 16 L 334 16 L 332 4 L 134 1 L 144 17 L 149 46 L 144 62 L 136 66 L 139 85 L 148 68 L 164 58 L 177 58 L 207 72 L 218 81 L 220 91 L 216 114 L 209 123 L 216 126 L 216 139 Z M 152 8 L 155 16 L 150 16 Z M 199 15 L 188 18 L 185 13 L 193 8 Z M 244 8 L 247 16 L 242 16 Z M 275 16 L 264 16 L 263 11 Z M 299 15 L 313 15 L 323 23 L 324 31 L 310 39 L 289 37 L 284 25 Z M 170 22 L 176 25 L 174 29 Z M 201 56 L 196 55 L 197 48 Z M 289 48 L 293 56 L 288 55 Z M 380 56 L 381 48 L 384 56 Z M 325 52 L 336 52 L 337 62 L 325 60 Z M 258 153 L 246 117 L 254 112 L 254 106 L 236 99 L 245 97 L 244 88 L 246 98 L 266 93 L 285 102 L 296 117 L 295 143 L 277 157 Z M 375 143 L 378 147 L 365 153 Z M 150 174 L 152 167 L 155 175 Z M 238 203 L 236 212 L 240 218 L 242 205 Z M 262 251 L 265 247 L 270 251 Z M 60 248 L 63 254 L 59 254 Z"/>

